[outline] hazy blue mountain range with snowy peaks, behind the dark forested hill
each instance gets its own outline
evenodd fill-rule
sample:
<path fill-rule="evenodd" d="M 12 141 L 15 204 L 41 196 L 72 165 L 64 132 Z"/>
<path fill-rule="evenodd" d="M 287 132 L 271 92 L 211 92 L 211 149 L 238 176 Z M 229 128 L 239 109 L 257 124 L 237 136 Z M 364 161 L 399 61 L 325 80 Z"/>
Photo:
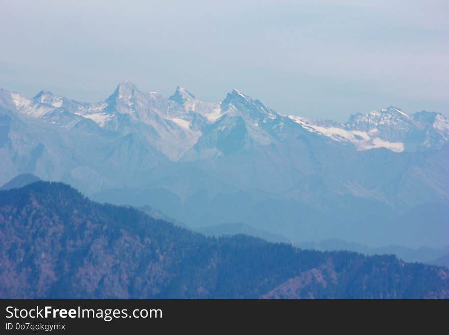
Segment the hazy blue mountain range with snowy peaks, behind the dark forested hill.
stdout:
<path fill-rule="evenodd" d="M 311 120 L 236 89 L 214 103 L 124 81 L 93 104 L 0 89 L 0 183 L 33 173 L 189 227 L 244 222 L 294 243 L 447 246 L 448 139 L 435 112 Z"/>

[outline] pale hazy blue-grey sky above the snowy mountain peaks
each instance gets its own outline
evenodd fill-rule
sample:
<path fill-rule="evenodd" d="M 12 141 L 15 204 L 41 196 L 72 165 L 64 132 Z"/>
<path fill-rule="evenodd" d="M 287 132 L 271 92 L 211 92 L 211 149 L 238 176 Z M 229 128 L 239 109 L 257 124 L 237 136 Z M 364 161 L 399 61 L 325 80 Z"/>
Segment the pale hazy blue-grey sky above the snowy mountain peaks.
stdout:
<path fill-rule="evenodd" d="M 99 101 L 129 79 L 345 120 L 449 111 L 449 2 L 0 0 L 0 87 Z"/>

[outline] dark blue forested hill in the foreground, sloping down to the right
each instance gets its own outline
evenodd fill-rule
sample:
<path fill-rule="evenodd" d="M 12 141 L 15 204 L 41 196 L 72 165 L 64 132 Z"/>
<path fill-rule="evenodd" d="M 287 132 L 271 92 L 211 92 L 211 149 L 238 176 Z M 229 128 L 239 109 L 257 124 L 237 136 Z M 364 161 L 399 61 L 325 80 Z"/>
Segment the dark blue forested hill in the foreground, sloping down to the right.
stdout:
<path fill-rule="evenodd" d="M 449 270 L 207 238 L 36 182 L 0 192 L 0 298 L 449 298 Z"/>

